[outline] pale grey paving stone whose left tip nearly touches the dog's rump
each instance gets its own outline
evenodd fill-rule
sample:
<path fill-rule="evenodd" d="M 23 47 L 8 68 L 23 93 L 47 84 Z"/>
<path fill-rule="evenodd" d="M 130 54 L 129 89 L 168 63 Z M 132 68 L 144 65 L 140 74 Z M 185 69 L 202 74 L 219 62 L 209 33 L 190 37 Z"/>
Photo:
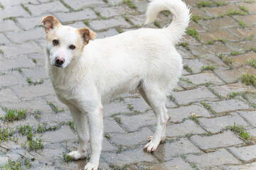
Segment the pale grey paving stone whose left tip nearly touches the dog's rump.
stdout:
<path fill-rule="evenodd" d="M 220 78 L 218 78 L 213 72 L 204 71 L 201 74 L 192 74 L 188 76 L 184 76 L 184 79 L 188 79 L 193 84 L 206 84 L 210 82 L 210 84 L 225 84 Z"/>

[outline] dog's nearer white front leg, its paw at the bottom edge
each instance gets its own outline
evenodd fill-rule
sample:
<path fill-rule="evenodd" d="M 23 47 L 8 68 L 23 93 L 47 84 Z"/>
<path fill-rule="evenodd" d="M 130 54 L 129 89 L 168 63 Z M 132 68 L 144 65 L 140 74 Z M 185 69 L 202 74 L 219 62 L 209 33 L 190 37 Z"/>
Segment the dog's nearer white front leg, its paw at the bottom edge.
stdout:
<path fill-rule="evenodd" d="M 102 107 L 87 113 L 90 125 L 90 148 L 91 157 L 90 162 L 85 165 L 85 170 L 98 169 L 100 162 L 100 152 L 102 149 L 103 138 L 103 114 Z"/>

